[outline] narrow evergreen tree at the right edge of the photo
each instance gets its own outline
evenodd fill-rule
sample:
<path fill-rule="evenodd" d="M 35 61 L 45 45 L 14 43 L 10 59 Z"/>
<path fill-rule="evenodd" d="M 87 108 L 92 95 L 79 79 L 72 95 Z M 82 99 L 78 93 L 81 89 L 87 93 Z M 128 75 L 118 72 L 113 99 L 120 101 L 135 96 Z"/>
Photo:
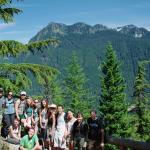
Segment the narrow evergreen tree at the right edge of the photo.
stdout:
<path fill-rule="evenodd" d="M 136 137 L 140 140 L 150 140 L 150 98 L 147 95 L 149 84 L 146 80 L 145 64 L 139 63 L 134 84 L 134 123 Z"/>

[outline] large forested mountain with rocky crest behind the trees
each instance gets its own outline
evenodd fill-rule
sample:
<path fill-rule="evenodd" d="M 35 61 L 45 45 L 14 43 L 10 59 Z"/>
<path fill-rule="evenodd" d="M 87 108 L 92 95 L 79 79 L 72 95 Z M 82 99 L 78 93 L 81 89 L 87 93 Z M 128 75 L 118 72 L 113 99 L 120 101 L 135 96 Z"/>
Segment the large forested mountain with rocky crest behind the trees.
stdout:
<path fill-rule="evenodd" d="M 127 93 L 130 96 L 138 61 L 150 58 L 150 32 L 134 25 L 112 29 L 100 24 L 90 26 L 79 22 L 65 25 L 51 22 L 30 42 L 47 38 L 56 38 L 61 43 L 56 48 L 49 47 L 43 52 L 28 54 L 23 61 L 48 64 L 58 68 L 64 74 L 72 52 L 76 51 L 89 79 L 88 86 L 92 89 L 99 88 L 98 67 L 104 61 L 105 47 L 108 42 L 112 43 L 121 62 L 121 69 L 127 82 Z M 150 73 L 150 66 L 147 73 Z"/>

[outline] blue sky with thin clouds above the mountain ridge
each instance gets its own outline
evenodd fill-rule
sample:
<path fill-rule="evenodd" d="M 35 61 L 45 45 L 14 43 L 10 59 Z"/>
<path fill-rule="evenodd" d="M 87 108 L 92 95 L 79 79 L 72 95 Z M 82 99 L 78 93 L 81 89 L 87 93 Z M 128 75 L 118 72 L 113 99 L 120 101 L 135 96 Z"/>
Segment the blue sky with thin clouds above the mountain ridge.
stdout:
<path fill-rule="evenodd" d="M 15 1 L 15 0 L 14 0 Z M 0 40 L 27 43 L 50 22 L 118 27 L 134 24 L 150 30 L 150 0 L 24 0 L 15 22 L 0 22 Z"/>

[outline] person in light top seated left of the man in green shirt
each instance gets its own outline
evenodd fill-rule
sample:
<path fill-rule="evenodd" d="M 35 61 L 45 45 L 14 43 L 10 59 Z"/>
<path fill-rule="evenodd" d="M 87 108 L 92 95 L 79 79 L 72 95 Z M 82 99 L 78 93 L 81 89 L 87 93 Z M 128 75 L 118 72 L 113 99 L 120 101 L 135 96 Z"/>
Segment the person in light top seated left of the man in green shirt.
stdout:
<path fill-rule="evenodd" d="M 13 125 L 9 127 L 7 141 L 12 144 L 19 144 L 21 139 L 21 126 L 17 118 L 14 119 Z"/>

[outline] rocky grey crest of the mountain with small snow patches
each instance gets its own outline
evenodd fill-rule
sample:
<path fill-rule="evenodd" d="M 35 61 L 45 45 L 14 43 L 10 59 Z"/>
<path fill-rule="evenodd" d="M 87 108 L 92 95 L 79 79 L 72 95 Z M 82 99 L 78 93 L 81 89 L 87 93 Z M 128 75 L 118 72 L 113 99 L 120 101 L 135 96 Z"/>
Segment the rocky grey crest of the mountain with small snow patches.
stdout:
<path fill-rule="evenodd" d="M 50 22 L 46 27 L 44 27 L 41 31 L 45 32 L 45 29 L 49 30 L 51 32 L 52 36 L 55 36 L 57 34 L 60 35 L 66 35 L 69 33 L 75 33 L 75 34 L 95 34 L 96 32 L 104 31 L 104 30 L 113 30 L 125 35 L 129 35 L 135 38 L 141 38 L 145 35 L 149 34 L 150 32 L 143 28 L 143 27 L 137 27 L 135 25 L 125 25 L 122 27 L 116 27 L 116 28 L 109 28 L 103 24 L 95 24 L 95 25 L 88 25 L 83 22 L 77 22 L 72 25 L 66 25 L 64 23 L 55 23 Z M 37 33 L 37 35 L 40 32 Z M 45 33 L 46 34 L 46 33 Z M 37 36 L 36 35 L 36 36 Z M 33 38 L 32 38 L 33 39 Z M 32 39 L 29 41 L 31 42 Z"/>

